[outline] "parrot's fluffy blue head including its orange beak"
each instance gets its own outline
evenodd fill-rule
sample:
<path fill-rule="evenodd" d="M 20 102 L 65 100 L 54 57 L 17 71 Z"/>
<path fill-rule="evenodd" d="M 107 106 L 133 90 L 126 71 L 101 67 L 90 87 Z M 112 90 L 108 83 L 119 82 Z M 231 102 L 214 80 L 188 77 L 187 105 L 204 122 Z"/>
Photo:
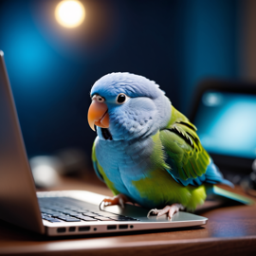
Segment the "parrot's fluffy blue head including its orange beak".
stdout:
<path fill-rule="evenodd" d="M 171 102 L 159 86 L 142 76 L 111 73 L 94 83 L 88 122 L 101 139 L 147 137 L 171 117 Z"/>

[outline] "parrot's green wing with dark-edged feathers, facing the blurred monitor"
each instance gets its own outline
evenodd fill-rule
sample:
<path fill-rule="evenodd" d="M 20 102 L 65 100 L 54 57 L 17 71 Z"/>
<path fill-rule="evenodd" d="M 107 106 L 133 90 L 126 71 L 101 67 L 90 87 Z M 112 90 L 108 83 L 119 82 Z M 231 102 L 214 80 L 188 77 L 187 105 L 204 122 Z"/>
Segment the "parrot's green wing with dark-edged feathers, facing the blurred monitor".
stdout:
<path fill-rule="evenodd" d="M 172 119 L 160 131 L 169 171 L 177 179 L 195 179 L 206 173 L 210 155 L 202 147 L 196 127 L 172 106 Z"/>

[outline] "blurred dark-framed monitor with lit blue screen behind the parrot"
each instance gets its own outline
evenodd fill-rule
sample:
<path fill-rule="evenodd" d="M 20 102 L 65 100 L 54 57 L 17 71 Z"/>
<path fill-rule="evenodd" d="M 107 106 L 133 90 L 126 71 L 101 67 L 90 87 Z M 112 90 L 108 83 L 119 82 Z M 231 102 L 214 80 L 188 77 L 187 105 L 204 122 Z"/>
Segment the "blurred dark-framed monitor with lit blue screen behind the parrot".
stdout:
<path fill-rule="evenodd" d="M 197 91 L 192 122 L 217 164 L 250 172 L 256 158 L 256 86 L 204 82 Z"/>

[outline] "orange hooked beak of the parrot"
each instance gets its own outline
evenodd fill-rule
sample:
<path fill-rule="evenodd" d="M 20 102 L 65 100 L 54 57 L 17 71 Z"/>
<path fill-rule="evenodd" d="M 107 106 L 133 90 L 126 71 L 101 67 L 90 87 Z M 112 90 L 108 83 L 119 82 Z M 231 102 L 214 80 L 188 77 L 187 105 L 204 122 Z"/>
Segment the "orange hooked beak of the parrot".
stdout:
<path fill-rule="evenodd" d="M 104 102 L 93 100 L 88 111 L 88 123 L 93 131 L 94 125 L 102 128 L 109 127 L 109 115 L 107 113 L 107 105 Z"/>

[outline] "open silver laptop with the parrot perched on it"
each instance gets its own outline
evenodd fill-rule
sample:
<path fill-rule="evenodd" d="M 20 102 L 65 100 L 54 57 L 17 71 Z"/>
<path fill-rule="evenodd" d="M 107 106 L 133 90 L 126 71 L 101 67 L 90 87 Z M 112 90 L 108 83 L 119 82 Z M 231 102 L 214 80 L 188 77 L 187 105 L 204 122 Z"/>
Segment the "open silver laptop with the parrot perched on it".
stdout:
<path fill-rule="evenodd" d="M 147 217 L 125 205 L 99 208 L 104 195 L 86 191 L 36 192 L 0 51 L 0 219 L 48 236 L 201 226 L 207 218 L 188 212 Z"/>

